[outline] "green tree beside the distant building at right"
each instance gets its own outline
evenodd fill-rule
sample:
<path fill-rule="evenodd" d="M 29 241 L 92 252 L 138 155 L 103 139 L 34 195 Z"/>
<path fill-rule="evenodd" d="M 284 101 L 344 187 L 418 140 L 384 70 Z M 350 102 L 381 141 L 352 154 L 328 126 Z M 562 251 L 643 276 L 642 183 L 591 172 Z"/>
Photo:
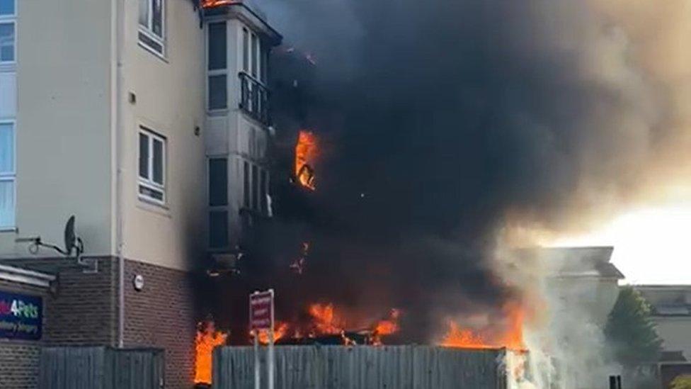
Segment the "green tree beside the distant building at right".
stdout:
<path fill-rule="evenodd" d="M 641 294 L 629 286 L 619 291 L 605 327 L 605 336 L 614 347 L 615 357 L 624 367 L 636 368 L 655 363 L 660 357 L 662 339 L 650 317 L 651 307 Z"/>

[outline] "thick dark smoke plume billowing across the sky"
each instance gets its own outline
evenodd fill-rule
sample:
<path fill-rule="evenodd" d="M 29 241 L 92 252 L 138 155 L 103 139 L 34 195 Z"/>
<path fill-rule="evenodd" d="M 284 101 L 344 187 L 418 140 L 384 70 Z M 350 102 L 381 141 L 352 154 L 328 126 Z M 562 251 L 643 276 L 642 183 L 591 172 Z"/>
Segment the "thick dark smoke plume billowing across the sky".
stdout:
<path fill-rule="evenodd" d="M 309 261 L 289 273 L 296 243 L 246 281 L 277 287 L 287 320 L 319 299 L 401 308 L 417 342 L 448 315 L 491 321 L 522 295 L 493 271 L 507 231 L 583 225 L 688 167 L 670 157 L 690 150 L 684 1 L 257 2 L 316 62 L 277 123 L 323 146 L 311 211 L 292 213 L 309 218 L 281 232 L 312 242 Z"/>

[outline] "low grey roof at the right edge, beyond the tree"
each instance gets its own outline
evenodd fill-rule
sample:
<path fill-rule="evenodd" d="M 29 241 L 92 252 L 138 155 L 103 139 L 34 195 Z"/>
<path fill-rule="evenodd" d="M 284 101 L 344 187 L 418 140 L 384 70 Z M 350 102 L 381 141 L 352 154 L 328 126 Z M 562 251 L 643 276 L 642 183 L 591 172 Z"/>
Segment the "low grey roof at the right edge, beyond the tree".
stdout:
<path fill-rule="evenodd" d="M 634 285 L 654 316 L 691 317 L 691 285 Z"/>

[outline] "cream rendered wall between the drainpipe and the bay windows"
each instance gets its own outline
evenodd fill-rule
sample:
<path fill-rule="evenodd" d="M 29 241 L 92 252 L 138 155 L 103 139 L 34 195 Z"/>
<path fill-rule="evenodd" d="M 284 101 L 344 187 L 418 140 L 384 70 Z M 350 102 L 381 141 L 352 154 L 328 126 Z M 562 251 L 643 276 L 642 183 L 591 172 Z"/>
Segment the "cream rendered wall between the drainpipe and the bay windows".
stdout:
<path fill-rule="evenodd" d="M 166 0 L 166 58 L 139 46 L 137 1 L 125 1 L 123 255 L 191 269 L 205 255 L 205 42 L 189 0 Z M 137 96 L 136 103 L 127 94 Z M 138 125 L 167 139 L 166 206 L 137 195 Z M 199 136 L 195 126 L 201 128 Z"/>

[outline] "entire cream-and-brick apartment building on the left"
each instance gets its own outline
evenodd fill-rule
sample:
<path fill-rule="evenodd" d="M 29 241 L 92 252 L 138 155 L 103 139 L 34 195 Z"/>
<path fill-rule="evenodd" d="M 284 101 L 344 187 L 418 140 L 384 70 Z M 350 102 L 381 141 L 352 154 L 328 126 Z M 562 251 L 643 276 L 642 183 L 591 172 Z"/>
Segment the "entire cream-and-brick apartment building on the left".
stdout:
<path fill-rule="evenodd" d="M 243 1 L 208 5 L 0 0 L 0 293 L 42 298 L 40 339 L 0 335 L 0 387 L 30 386 L 45 344 L 162 347 L 166 388 L 190 387 L 193 272 L 269 212 L 281 39 Z M 28 242 L 62 246 L 70 215 L 86 266 Z"/>

